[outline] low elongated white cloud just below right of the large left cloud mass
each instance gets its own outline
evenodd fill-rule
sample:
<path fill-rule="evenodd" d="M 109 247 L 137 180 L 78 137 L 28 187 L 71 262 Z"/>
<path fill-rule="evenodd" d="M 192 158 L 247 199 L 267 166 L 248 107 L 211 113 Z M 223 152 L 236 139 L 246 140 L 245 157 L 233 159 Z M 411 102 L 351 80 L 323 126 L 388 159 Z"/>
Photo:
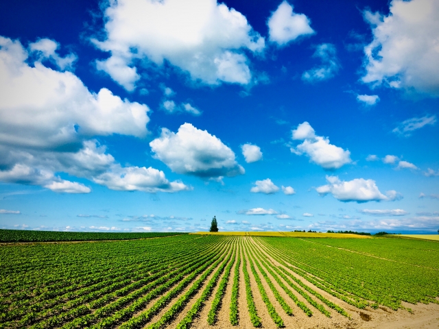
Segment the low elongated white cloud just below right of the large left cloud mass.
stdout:
<path fill-rule="evenodd" d="M 126 167 L 114 166 L 111 171 L 102 173 L 93 178 L 97 184 L 107 186 L 116 191 L 143 191 L 178 192 L 188 191 L 191 187 L 180 181 L 169 182 L 165 173 L 152 167 Z"/>

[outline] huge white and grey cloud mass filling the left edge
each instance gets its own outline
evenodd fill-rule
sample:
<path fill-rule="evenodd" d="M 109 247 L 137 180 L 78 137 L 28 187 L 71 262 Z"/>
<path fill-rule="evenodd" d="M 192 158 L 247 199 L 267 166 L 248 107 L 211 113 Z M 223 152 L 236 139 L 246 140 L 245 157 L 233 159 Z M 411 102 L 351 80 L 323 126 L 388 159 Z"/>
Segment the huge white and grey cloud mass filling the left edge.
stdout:
<path fill-rule="evenodd" d="M 45 66 L 48 56 L 60 67 L 69 66 L 55 56 L 57 47 L 42 39 L 27 50 L 18 40 L 0 37 L 0 181 L 90 193 L 88 186 L 58 173 L 109 185 L 102 175 L 119 172 L 121 166 L 106 147 L 88 138 L 144 137 L 149 108 L 106 88 L 91 93 L 73 73 Z"/>

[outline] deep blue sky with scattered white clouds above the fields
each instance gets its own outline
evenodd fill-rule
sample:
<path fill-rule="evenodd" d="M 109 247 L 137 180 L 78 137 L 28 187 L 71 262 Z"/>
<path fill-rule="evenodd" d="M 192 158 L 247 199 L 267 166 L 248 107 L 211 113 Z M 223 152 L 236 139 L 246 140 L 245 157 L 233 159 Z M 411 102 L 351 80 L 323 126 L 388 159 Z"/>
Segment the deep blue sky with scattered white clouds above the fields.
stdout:
<path fill-rule="evenodd" d="M 439 228 L 439 4 L 0 4 L 0 228 Z"/>

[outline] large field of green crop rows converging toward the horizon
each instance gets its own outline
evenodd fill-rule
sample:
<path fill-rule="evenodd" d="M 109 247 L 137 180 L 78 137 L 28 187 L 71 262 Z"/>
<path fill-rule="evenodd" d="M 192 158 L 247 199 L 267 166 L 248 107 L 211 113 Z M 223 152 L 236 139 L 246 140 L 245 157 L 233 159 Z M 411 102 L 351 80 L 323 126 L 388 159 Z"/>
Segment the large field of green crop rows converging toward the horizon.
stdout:
<path fill-rule="evenodd" d="M 9 243 L 0 273 L 0 328 L 362 328 L 439 317 L 436 241 Z"/>

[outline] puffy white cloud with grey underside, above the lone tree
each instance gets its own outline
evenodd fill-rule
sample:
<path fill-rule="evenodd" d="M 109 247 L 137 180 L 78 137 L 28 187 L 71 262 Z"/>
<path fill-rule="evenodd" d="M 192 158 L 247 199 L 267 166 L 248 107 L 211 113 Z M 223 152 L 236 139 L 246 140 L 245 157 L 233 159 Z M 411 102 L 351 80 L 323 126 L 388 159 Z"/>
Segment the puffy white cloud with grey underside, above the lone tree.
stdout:
<path fill-rule="evenodd" d="M 206 130 L 185 123 L 174 133 L 166 128 L 150 143 L 154 157 L 172 171 L 201 178 L 233 177 L 245 173 L 235 153 Z"/>

